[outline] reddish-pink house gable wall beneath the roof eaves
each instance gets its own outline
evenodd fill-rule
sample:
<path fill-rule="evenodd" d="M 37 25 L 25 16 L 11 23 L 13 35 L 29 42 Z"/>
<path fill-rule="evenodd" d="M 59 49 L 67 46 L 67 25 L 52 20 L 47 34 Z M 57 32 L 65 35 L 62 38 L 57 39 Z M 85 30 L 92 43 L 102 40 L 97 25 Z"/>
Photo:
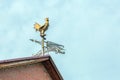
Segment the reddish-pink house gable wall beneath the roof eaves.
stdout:
<path fill-rule="evenodd" d="M 40 63 L 0 69 L 0 80 L 52 80 Z"/>

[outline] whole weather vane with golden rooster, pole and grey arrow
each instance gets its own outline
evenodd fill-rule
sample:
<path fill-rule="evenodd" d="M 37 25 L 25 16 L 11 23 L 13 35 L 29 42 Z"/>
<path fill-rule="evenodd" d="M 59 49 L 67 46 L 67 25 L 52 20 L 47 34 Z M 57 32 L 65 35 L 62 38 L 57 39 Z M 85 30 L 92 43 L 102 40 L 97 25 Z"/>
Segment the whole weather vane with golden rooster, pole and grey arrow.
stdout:
<path fill-rule="evenodd" d="M 42 48 L 42 50 L 39 50 L 34 56 L 43 56 L 49 52 L 65 54 L 65 50 L 64 50 L 63 45 L 54 43 L 52 41 L 46 41 L 45 31 L 48 29 L 48 27 L 49 27 L 49 19 L 48 18 L 45 18 L 44 25 L 40 25 L 38 23 L 34 24 L 34 29 L 36 31 L 40 32 L 40 36 L 42 38 L 41 41 L 30 39 L 30 41 L 40 44 L 41 48 Z"/>

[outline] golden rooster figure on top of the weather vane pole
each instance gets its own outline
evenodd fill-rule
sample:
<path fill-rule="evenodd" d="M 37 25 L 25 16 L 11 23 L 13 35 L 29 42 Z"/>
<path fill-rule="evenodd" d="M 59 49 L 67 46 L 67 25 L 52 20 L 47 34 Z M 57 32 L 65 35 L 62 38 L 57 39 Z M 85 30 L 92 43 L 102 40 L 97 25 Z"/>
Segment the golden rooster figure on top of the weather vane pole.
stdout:
<path fill-rule="evenodd" d="M 36 29 L 36 31 L 40 32 L 41 37 L 45 36 L 45 31 L 48 29 L 48 26 L 49 26 L 49 19 L 48 18 L 45 18 L 45 24 L 42 26 L 38 23 L 34 24 L 34 28 Z"/>

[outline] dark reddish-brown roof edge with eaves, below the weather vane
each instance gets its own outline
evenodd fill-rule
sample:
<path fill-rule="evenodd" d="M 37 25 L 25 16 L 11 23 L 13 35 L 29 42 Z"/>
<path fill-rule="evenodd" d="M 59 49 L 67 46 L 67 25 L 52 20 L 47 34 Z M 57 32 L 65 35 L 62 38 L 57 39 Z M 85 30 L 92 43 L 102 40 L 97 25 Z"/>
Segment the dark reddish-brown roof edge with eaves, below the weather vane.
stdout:
<path fill-rule="evenodd" d="M 11 64 L 12 63 L 12 64 Z M 0 61 L 0 69 L 26 64 L 42 63 L 53 80 L 63 80 L 52 58 L 47 56 L 32 56 Z"/>

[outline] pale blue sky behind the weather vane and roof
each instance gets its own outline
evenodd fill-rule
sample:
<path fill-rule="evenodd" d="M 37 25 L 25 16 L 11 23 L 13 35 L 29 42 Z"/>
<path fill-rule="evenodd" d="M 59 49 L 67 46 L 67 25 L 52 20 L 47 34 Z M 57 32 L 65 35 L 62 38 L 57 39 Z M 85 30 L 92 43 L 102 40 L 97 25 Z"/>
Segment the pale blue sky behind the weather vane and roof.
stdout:
<path fill-rule="evenodd" d="M 29 57 L 41 40 L 35 22 L 49 17 L 46 38 L 64 80 L 120 80 L 120 0 L 0 0 L 0 60 Z"/>

